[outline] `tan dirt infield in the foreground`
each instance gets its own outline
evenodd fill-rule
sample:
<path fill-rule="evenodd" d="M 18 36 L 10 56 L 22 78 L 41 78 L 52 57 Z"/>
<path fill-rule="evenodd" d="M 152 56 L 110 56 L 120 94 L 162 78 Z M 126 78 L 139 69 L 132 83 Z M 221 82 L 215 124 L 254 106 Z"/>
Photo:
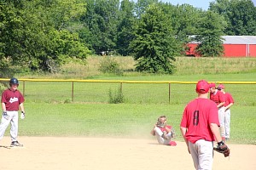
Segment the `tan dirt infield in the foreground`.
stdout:
<path fill-rule="evenodd" d="M 1 170 L 191 170 L 192 159 L 183 142 L 156 144 L 153 139 L 20 137 L 24 148 L 0 142 Z M 256 169 L 256 145 L 229 144 L 230 158 L 215 153 L 213 169 Z"/>

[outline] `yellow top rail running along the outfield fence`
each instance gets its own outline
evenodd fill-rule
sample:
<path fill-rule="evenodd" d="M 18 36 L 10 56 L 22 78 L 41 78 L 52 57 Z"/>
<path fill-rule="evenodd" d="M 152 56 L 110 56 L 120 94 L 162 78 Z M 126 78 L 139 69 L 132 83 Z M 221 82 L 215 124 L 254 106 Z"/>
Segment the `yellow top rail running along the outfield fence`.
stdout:
<path fill-rule="evenodd" d="M 0 78 L 0 81 L 9 81 L 7 78 Z M 154 81 L 123 81 L 123 80 L 76 80 L 76 79 L 29 79 L 20 78 L 19 81 L 24 82 L 124 82 L 124 83 L 177 83 L 177 84 L 195 84 L 196 82 L 182 82 L 182 81 L 164 81 L 164 82 L 154 82 Z M 256 82 L 219 82 L 224 84 L 256 84 Z"/>

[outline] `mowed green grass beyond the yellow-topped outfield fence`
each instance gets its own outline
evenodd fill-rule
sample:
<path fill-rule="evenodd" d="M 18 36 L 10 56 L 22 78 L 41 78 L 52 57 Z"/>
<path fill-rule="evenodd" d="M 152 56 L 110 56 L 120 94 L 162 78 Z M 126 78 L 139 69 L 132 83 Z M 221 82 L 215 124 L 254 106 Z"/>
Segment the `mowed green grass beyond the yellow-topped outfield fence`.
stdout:
<path fill-rule="evenodd" d="M 248 76 L 249 75 L 249 76 Z M 226 75 L 227 76 L 227 75 Z M 239 81 L 239 77 L 228 75 L 219 78 L 216 75 L 191 76 L 187 79 L 172 79 L 172 76 L 129 77 L 135 81 L 192 81 L 207 79 L 212 82 Z M 242 74 L 247 81 L 253 81 L 253 73 Z M 255 74 L 256 77 L 256 74 Z M 112 77 L 111 80 L 125 80 L 125 77 Z M 245 81 L 245 79 L 243 79 Z M 74 82 L 73 102 L 75 103 L 108 103 L 109 91 L 116 92 L 119 82 Z M 225 84 L 226 91 L 233 95 L 236 105 L 256 105 L 256 84 Z M 20 83 L 23 92 L 23 83 Z M 169 104 L 168 83 L 123 83 L 122 92 L 126 104 Z M 40 103 L 69 103 L 72 101 L 72 82 L 26 82 L 25 96 L 27 102 Z M 187 104 L 194 99 L 195 84 L 171 84 L 170 104 Z"/>

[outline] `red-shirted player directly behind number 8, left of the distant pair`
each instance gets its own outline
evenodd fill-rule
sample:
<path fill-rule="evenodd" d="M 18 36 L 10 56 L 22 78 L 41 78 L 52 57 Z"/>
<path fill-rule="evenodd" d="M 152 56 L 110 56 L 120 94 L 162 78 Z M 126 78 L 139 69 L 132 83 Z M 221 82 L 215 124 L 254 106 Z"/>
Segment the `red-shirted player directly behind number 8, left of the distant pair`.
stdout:
<path fill-rule="evenodd" d="M 215 102 L 218 107 L 218 120 L 220 124 L 220 134 L 222 139 L 225 141 L 225 128 L 224 128 L 224 94 L 218 91 L 215 83 L 210 83 L 210 99 Z"/>

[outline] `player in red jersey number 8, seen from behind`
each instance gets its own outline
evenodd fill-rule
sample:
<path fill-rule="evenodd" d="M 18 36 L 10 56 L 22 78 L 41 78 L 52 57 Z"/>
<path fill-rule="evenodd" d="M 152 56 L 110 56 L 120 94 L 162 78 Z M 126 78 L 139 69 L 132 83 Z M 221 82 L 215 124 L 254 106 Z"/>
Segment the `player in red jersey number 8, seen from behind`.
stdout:
<path fill-rule="evenodd" d="M 212 169 L 213 141 L 216 139 L 218 148 L 226 145 L 219 133 L 216 104 L 207 99 L 208 82 L 205 80 L 197 82 L 195 91 L 198 97 L 186 105 L 180 129 L 195 169 Z"/>

